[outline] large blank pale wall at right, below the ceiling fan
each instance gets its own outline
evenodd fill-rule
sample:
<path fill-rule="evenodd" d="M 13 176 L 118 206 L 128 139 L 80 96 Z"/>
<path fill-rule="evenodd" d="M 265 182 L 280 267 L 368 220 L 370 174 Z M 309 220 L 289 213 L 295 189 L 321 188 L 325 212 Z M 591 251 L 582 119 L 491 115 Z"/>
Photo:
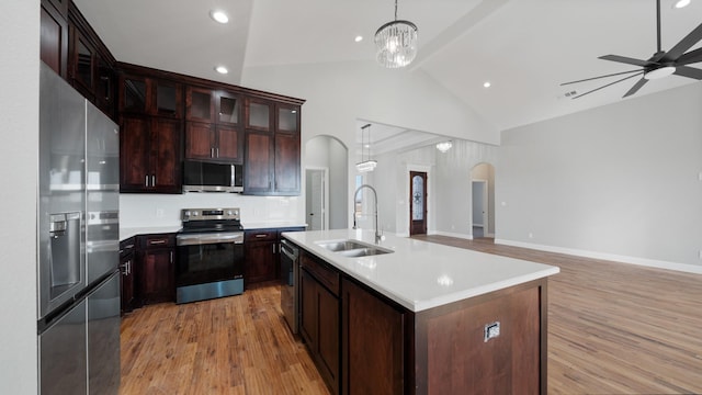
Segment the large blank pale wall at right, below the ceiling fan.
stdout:
<path fill-rule="evenodd" d="M 497 241 L 702 272 L 701 109 L 698 82 L 503 132 Z"/>

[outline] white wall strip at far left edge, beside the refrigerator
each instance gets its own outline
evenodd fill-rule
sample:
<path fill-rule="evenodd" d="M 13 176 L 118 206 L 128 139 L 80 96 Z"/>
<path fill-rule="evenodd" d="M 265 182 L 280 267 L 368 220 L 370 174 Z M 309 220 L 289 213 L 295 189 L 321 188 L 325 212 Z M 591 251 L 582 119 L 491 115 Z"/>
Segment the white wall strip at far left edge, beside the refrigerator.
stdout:
<path fill-rule="evenodd" d="M 39 1 L 0 7 L 0 385 L 36 394 L 36 207 L 38 171 Z"/>

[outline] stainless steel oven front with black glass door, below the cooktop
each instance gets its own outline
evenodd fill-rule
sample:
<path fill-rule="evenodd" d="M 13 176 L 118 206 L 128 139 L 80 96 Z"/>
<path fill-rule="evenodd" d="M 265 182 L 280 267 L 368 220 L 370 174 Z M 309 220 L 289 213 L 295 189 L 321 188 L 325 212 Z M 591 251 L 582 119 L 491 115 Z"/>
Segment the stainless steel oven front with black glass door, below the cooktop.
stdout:
<path fill-rule="evenodd" d="M 242 232 L 179 234 L 176 242 L 177 303 L 242 292 Z"/>

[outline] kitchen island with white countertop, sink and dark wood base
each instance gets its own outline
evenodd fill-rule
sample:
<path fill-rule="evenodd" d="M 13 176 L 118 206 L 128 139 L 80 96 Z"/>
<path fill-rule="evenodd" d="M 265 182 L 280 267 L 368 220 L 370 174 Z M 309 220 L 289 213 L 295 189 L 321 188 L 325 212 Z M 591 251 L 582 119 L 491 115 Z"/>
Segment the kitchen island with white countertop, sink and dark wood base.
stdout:
<path fill-rule="evenodd" d="M 332 393 L 546 393 L 558 268 L 360 229 L 283 237 L 302 249 L 299 330 Z"/>

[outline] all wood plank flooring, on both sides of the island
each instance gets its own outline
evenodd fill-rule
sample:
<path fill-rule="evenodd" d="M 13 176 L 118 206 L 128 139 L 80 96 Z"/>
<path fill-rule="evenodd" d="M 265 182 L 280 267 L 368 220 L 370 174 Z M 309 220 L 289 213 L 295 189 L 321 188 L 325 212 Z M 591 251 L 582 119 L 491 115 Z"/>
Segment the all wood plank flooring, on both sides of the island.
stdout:
<path fill-rule="evenodd" d="M 432 242 L 555 264 L 550 394 L 702 394 L 702 275 L 509 246 Z M 275 284 L 122 323 L 121 394 L 328 394 L 282 318 Z"/>

